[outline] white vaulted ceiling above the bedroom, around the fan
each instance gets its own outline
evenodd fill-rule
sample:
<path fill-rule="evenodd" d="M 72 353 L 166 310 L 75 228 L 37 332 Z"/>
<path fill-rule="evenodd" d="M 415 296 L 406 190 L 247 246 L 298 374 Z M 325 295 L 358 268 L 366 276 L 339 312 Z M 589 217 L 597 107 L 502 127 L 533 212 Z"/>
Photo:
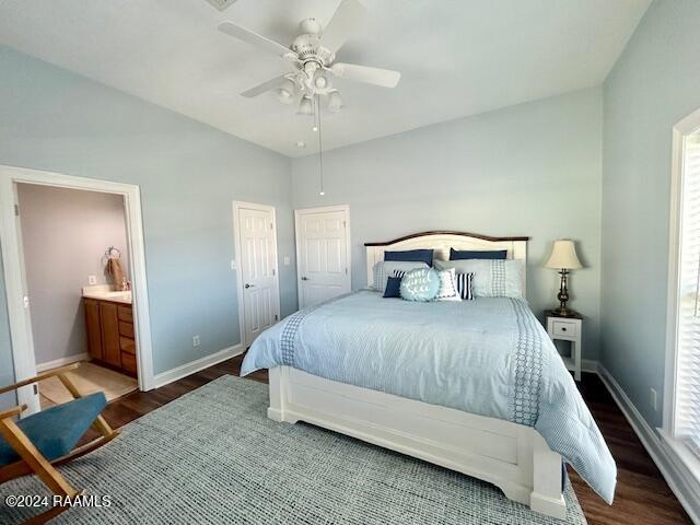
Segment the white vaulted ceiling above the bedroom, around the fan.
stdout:
<path fill-rule="evenodd" d="M 371 23 L 338 60 L 396 69 L 388 90 L 336 80 L 326 149 L 603 82 L 651 0 L 363 0 Z M 282 61 L 217 31 L 231 20 L 284 45 L 339 0 L 3 0 L 0 43 L 237 137 L 299 156 L 311 117 L 238 95 Z M 298 140 L 308 142 L 296 148 Z"/>

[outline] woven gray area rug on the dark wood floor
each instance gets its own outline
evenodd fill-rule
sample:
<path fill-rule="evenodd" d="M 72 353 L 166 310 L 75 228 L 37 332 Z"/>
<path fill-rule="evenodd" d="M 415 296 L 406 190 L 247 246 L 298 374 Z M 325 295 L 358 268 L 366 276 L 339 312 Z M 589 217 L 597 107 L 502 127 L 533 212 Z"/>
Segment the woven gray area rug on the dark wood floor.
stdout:
<path fill-rule="evenodd" d="M 308 424 L 266 417 L 267 386 L 233 376 L 148 413 L 60 468 L 109 508 L 61 524 L 561 524 L 477 479 Z M 0 523 L 37 513 L 8 494 L 48 493 L 34 477 L 0 486 Z M 568 523 L 585 524 L 568 485 Z"/>

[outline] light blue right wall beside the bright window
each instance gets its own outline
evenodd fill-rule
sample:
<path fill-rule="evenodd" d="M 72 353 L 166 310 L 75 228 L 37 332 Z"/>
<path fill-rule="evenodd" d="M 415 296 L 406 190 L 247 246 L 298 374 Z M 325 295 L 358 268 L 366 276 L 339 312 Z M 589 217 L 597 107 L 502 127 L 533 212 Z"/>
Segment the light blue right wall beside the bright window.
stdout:
<path fill-rule="evenodd" d="M 657 0 L 604 86 L 600 357 L 652 425 L 663 406 L 672 128 L 700 107 L 699 28 L 700 2 Z"/>

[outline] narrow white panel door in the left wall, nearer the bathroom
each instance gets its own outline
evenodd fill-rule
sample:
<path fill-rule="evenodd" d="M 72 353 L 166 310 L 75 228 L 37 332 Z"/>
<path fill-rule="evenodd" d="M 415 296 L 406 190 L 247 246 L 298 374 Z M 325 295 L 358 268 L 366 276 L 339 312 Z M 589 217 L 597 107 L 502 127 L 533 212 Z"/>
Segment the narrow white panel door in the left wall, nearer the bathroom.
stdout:
<path fill-rule="evenodd" d="M 246 348 L 279 319 L 275 211 L 250 206 L 236 207 Z"/>

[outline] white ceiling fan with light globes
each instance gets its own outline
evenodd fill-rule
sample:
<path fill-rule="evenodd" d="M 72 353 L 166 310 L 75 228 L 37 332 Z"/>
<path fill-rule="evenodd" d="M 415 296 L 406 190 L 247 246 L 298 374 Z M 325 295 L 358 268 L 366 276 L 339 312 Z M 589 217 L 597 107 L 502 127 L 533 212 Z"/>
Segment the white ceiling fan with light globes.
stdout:
<path fill-rule="evenodd" d="M 244 91 L 241 95 L 254 97 L 277 90 L 278 98 L 285 104 L 293 103 L 301 95 L 298 113 L 314 115 L 314 108 L 322 95 L 328 97 L 329 110 L 338 112 L 343 106 L 340 92 L 332 85 L 331 77 L 396 88 L 401 77 L 398 71 L 336 61 L 336 52 L 362 27 L 366 16 L 368 11 L 359 0 L 342 0 L 326 27 L 313 18 L 302 20 L 299 24 L 301 34 L 294 38 L 290 47 L 233 22 L 221 23 L 219 31 L 271 52 L 292 66 L 291 72 Z"/>

